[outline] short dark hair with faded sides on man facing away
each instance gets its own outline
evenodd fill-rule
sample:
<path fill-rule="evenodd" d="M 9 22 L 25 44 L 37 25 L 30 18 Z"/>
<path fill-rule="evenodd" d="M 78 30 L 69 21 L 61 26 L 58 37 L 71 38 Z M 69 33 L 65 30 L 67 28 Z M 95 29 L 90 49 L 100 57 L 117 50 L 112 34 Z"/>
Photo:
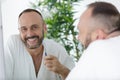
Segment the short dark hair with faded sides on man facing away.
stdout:
<path fill-rule="evenodd" d="M 94 2 L 88 5 L 92 8 L 92 17 L 102 19 L 102 23 L 106 24 L 110 32 L 120 31 L 120 13 L 117 8 L 108 2 Z"/>

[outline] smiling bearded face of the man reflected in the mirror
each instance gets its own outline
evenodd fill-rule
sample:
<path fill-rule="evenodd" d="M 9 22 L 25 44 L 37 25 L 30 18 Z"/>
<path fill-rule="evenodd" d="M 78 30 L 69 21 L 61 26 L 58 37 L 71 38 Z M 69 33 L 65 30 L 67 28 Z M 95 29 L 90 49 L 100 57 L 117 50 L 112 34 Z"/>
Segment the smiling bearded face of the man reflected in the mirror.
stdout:
<path fill-rule="evenodd" d="M 21 40 L 27 48 L 38 48 L 44 38 L 44 23 L 36 12 L 23 13 L 19 18 L 19 30 Z"/>

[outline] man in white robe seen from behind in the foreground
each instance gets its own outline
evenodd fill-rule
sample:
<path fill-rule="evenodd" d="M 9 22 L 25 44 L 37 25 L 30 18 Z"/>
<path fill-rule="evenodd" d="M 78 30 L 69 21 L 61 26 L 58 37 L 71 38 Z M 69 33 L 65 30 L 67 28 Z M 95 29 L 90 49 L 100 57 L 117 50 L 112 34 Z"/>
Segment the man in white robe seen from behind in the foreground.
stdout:
<path fill-rule="evenodd" d="M 86 49 L 66 80 L 120 80 L 120 14 L 107 2 L 89 4 L 78 24 Z"/>

